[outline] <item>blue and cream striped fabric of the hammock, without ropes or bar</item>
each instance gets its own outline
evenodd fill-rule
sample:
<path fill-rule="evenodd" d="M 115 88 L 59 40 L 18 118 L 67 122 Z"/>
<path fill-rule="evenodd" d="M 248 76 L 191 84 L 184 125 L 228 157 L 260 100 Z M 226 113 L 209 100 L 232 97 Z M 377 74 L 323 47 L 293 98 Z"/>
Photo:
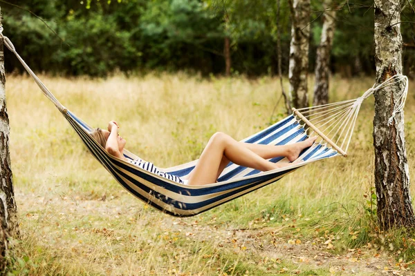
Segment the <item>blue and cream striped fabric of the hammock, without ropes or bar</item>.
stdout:
<path fill-rule="evenodd" d="M 173 179 L 160 176 L 156 172 L 150 172 L 145 168 L 135 166 L 129 161 L 113 157 L 89 135 L 89 132 L 92 130 L 91 127 L 77 118 L 72 112 L 66 111 L 63 114 L 93 156 L 113 175 L 118 183 L 138 199 L 158 210 L 177 217 L 190 217 L 203 213 L 232 199 L 246 195 L 253 190 L 271 184 L 312 161 L 339 155 L 332 148 L 327 148 L 322 144 L 315 144 L 302 152 L 300 158 L 304 159 L 304 162 L 300 164 L 268 172 L 260 172 L 252 168 L 229 164 L 223 170 L 218 183 L 203 186 L 187 186 Z M 255 144 L 283 145 L 303 141 L 306 137 L 304 128 L 291 115 L 242 141 Z M 124 150 L 124 155 L 127 159 L 138 159 L 136 155 L 133 155 L 128 150 Z M 281 164 L 288 162 L 286 158 L 281 157 L 271 159 L 270 161 Z M 160 168 L 159 170 L 176 177 L 183 177 L 192 171 L 196 162 L 197 160 L 181 166 Z"/>

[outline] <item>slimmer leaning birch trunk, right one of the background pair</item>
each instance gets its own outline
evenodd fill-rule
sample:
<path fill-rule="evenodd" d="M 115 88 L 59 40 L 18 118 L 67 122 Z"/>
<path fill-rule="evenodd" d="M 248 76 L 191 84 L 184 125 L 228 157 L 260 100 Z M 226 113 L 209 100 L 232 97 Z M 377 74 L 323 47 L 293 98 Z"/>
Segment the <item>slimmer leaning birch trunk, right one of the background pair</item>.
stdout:
<path fill-rule="evenodd" d="M 324 1 L 324 9 L 331 1 Z M 330 52 L 335 28 L 335 10 L 327 10 L 323 14 L 323 29 L 320 46 L 317 48 L 315 65 L 315 85 L 313 106 L 329 102 Z"/>

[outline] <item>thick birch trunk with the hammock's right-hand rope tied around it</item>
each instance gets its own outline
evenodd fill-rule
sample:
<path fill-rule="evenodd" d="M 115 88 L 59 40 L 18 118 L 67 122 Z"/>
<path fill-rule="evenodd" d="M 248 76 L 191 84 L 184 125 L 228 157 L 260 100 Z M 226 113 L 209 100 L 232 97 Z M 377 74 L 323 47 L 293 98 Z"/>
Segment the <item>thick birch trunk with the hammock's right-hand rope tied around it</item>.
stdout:
<path fill-rule="evenodd" d="M 403 41 L 400 24 L 396 24 L 400 21 L 402 8 L 400 0 L 375 0 L 376 85 L 402 73 Z M 402 83 L 396 83 L 375 93 L 375 186 L 378 219 L 383 230 L 415 226 L 409 195 L 403 112 L 396 114 L 388 126 L 394 105 L 403 93 L 402 88 Z"/>

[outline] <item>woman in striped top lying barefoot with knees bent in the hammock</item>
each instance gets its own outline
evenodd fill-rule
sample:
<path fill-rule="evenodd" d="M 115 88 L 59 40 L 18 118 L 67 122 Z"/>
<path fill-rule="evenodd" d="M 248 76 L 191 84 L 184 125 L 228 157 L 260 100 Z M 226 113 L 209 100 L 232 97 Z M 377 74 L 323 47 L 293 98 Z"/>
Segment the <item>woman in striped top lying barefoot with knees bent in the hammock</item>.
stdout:
<path fill-rule="evenodd" d="M 317 137 L 310 137 L 305 141 L 295 144 L 273 146 L 248 144 L 236 141 L 229 135 L 216 132 L 210 138 L 208 145 L 203 150 L 199 161 L 187 178 L 169 175 L 161 172 L 153 164 L 141 159 L 130 160 L 124 157 L 123 150 L 127 141 L 118 135 L 118 124 L 110 121 L 108 130 L 97 128 L 91 132 L 91 136 L 109 152 L 109 154 L 130 162 L 144 170 L 149 170 L 167 179 L 187 185 L 205 185 L 214 183 L 223 169 L 231 161 L 239 166 L 255 168 L 261 171 L 274 170 L 281 166 L 267 159 L 273 157 L 286 157 L 288 161 L 295 161 L 304 148 L 313 145 Z"/>

